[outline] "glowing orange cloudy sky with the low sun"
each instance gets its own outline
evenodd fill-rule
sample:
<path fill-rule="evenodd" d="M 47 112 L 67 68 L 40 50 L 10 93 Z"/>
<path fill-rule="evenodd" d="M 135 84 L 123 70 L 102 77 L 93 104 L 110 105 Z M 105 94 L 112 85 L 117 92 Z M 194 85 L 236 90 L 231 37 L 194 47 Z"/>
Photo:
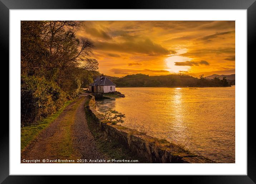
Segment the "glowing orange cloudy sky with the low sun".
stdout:
<path fill-rule="evenodd" d="M 235 21 L 84 21 L 99 72 L 122 77 L 235 73 Z"/>

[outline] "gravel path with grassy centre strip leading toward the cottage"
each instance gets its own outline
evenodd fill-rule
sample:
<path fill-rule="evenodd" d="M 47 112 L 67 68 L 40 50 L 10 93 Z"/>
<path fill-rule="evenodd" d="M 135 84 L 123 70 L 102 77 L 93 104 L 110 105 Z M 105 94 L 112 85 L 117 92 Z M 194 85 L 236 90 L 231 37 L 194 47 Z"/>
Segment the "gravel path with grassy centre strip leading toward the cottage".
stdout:
<path fill-rule="evenodd" d="M 92 136 L 88 129 L 85 119 L 84 103 L 88 99 L 87 96 L 80 96 L 74 102 L 69 104 L 60 116 L 49 125 L 39 136 L 32 142 L 22 153 L 21 163 L 25 160 L 40 160 L 43 159 L 74 160 L 77 159 L 103 159 Z"/>

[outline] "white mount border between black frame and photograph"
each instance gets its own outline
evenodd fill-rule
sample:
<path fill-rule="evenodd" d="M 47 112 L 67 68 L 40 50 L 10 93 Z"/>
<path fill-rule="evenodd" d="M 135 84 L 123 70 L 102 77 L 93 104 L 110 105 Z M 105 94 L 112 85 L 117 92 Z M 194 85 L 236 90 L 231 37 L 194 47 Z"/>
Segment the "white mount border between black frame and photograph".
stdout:
<path fill-rule="evenodd" d="M 20 164 L 20 20 L 235 20 L 236 163 Z M 10 10 L 10 175 L 247 175 L 247 10 Z"/>

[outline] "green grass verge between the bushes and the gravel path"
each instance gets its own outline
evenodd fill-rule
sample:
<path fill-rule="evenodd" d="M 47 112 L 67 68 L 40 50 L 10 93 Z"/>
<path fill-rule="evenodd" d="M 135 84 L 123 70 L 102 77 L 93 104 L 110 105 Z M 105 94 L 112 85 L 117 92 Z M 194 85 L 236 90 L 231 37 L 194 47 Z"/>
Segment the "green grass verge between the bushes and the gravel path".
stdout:
<path fill-rule="evenodd" d="M 29 145 L 35 138 L 39 135 L 41 131 L 49 126 L 51 122 L 53 122 L 59 115 L 63 112 L 63 110 L 72 102 L 73 100 L 67 101 L 63 108 L 57 111 L 55 114 L 52 114 L 49 117 L 42 119 L 37 124 L 32 124 L 30 126 L 21 127 L 21 150 Z"/>

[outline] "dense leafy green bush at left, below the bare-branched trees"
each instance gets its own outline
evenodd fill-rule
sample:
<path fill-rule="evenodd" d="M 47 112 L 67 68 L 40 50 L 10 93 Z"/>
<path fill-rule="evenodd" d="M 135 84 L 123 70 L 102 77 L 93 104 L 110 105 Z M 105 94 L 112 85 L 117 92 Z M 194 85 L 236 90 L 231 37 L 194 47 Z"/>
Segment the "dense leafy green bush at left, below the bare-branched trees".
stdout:
<path fill-rule="evenodd" d="M 21 126 L 49 116 L 67 101 L 66 94 L 44 77 L 21 76 Z"/>

